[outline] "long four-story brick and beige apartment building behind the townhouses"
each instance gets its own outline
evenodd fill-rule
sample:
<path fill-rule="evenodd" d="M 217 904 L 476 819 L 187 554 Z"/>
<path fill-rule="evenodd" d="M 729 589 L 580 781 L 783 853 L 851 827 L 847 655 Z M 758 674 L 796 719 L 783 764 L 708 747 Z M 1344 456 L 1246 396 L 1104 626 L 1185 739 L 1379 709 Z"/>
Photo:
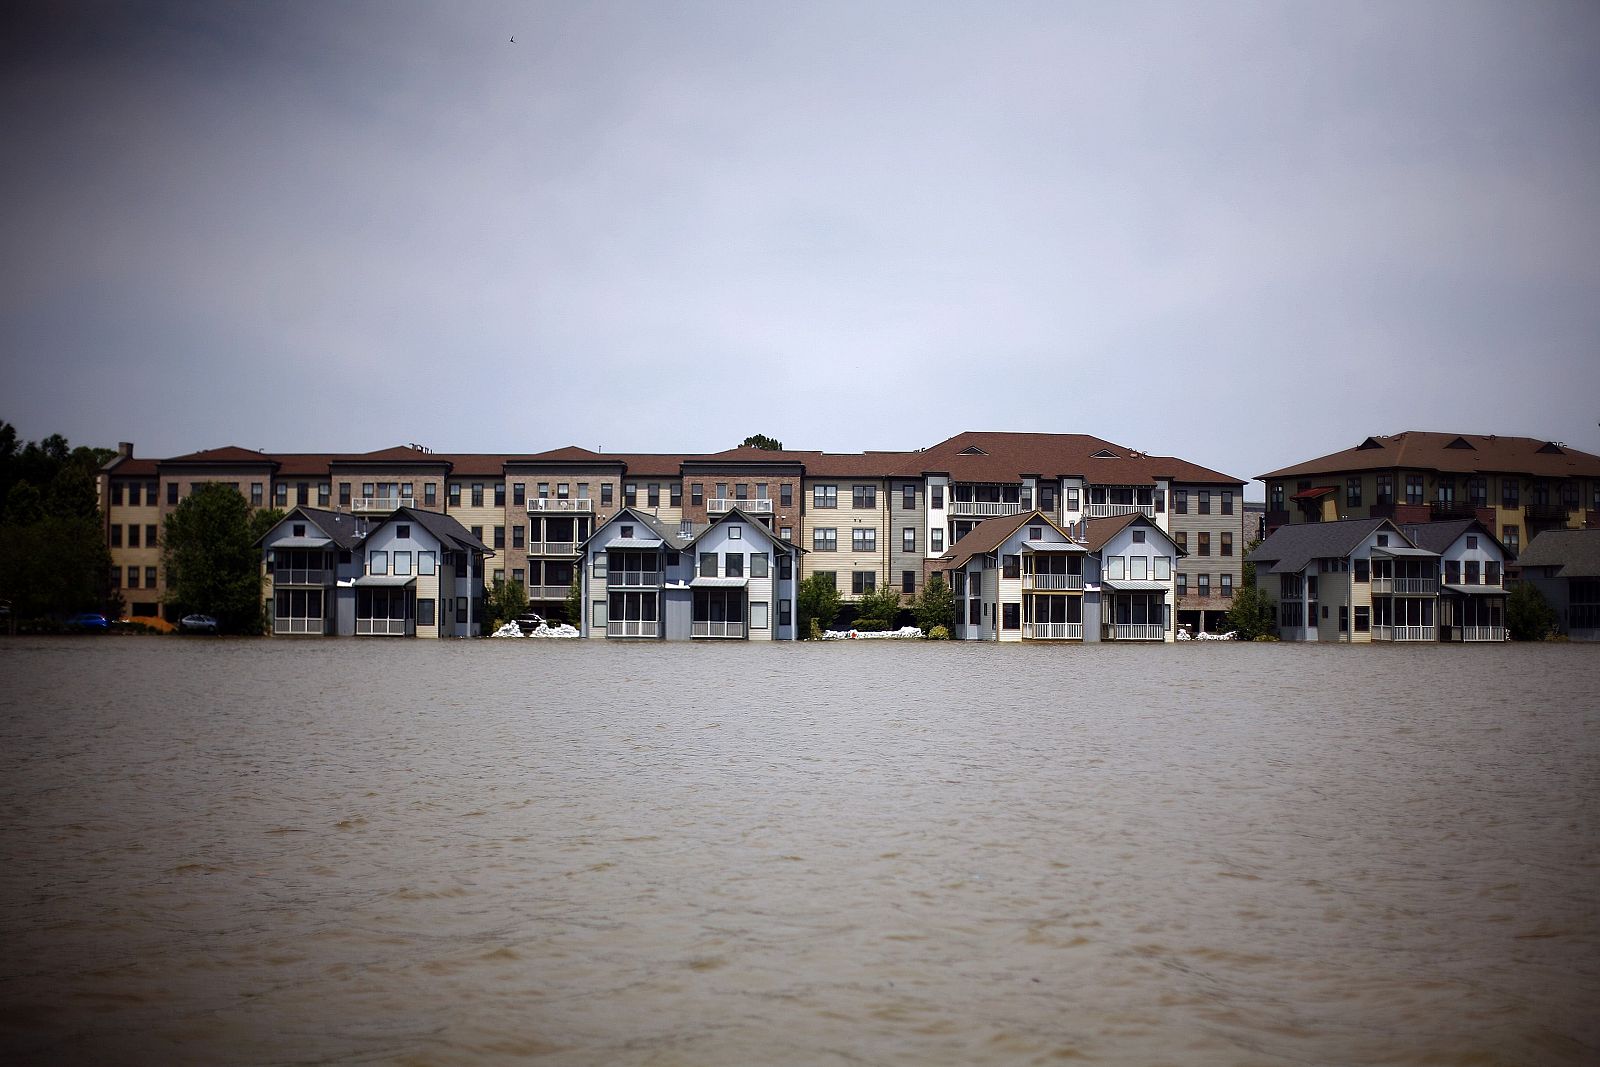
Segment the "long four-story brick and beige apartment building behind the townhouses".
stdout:
<path fill-rule="evenodd" d="M 987 518 L 1038 512 L 1069 526 L 1142 515 L 1176 542 L 1168 630 L 1211 625 L 1227 609 L 1245 545 L 1242 480 L 1078 434 L 968 432 L 925 450 L 861 454 L 418 446 L 269 454 L 229 446 L 150 461 L 123 445 L 102 470 L 101 504 L 117 581 L 134 611 L 154 614 L 165 592 L 152 534 L 208 482 L 234 485 L 253 507 L 350 515 L 363 530 L 397 509 L 448 515 L 483 547 L 482 584 L 522 582 L 544 611 L 584 579 L 584 545 L 622 509 L 685 542 L 739 512 L 802 550 L 795 581 L 832 574 L 846 603 L 885 585 L 917 595 L 930 561 Z M 269 605 L 275 609 L 277 597 Z M 469 614 L 480 611 L 474 603 Z"/>

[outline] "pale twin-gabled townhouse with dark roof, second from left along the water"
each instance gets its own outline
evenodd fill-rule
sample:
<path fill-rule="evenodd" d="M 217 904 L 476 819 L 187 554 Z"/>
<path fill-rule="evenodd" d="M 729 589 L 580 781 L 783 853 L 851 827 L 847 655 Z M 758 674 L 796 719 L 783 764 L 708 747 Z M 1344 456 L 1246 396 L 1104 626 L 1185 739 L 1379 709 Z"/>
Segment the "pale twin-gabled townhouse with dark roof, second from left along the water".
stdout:
<path fill-rule="evenodd" d="M 622 507 L 582 545 L 586 638 L 795 640 L 800 550 L 739 507 L 698 526 Z"/>

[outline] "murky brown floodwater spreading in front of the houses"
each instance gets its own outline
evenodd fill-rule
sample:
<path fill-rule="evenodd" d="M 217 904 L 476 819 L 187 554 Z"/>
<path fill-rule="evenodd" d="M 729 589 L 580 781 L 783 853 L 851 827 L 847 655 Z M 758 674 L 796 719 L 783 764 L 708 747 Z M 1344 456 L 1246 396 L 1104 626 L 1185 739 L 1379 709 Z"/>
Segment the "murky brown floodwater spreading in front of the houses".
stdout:
<path fill-rule="evenodd" d="M 1592 1064 L 1597 667 L 0 640 L 0 1059 Z"/>

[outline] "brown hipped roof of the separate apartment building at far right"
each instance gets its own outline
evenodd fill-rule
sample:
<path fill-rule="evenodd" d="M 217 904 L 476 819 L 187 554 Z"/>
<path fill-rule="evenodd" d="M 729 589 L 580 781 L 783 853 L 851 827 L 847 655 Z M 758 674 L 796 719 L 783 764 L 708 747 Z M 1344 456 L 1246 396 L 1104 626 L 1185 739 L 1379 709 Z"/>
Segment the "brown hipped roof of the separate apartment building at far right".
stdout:
<path fill-rule="evenodd" d="M 1590 456 L 1576 448 L 1536 437 L 1405 430 L 1390 437 L 1368 437 L 1354 448 L 1258 477 L 1261 480 L 1296 478 L 1406 467 L 1445 474 L 1504 472 L 1538 478 L 1595 478 L 1600 477 L 1600 456 Z"/>

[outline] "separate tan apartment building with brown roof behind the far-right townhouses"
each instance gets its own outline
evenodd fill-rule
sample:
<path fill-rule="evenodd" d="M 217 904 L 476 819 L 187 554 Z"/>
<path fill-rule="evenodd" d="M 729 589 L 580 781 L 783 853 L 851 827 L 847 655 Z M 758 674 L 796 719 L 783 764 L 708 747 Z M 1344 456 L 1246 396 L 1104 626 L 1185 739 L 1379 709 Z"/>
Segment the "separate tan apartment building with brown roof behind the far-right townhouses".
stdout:
<path fill-rule="evenodd" d="M 1531 437 L 1406 430 L 1259 477 L 1269 531 L 1477 518 L 1515 560 L 1546 530 L 1600 528 L 1600 456 Z"/>

